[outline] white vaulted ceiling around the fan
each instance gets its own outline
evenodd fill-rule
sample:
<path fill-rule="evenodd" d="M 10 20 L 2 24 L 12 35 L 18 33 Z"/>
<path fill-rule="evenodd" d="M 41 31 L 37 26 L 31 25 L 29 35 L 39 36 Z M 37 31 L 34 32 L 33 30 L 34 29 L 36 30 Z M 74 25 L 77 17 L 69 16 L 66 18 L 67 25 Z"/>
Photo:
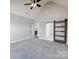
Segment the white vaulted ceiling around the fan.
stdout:
<path fill-rule="evenodd" d="M 24 3 L 30 2 L 30 0 L 10 0 L 10 12 L 16 15 L 34 19 L 39 11 L 43 8 L 45 3 L 52 1 L 68 8 L 68 0 L 42 0 L 39 3 L 42 5 L 41 8 L 35 7 L 30 10 L 30 6 L 24 6 Z"/>

